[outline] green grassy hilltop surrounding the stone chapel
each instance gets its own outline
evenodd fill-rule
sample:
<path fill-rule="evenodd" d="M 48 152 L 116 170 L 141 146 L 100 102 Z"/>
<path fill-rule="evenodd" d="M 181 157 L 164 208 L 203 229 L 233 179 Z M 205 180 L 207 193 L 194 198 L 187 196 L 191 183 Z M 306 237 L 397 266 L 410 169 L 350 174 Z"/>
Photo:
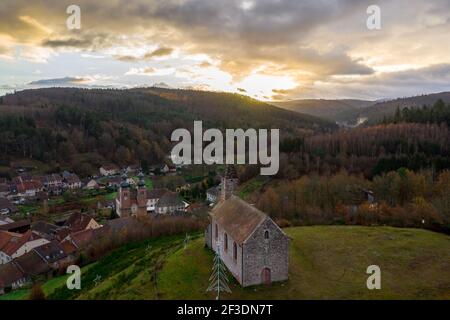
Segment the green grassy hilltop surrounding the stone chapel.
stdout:
<path fill-rule="evenodd" d="M 233 292 L 224 299 L 450 299 L 449 236 L 391 227 L 285 230 L 292 238 L 289 280 L 243 289 L 230 278 Z M 67 290 L 64 277 L 47 282 L 44 291 L 51 299 L 213 299 L 205 292 L 212 253 L 200 234 L 186 249 L 183 240 L 125 246 L 83 268 L 81 291 Z M 366 288 L 373 264 L 381 268 L 381 290 Z M 19 293 L 4 298 L 27 297 Z"/>

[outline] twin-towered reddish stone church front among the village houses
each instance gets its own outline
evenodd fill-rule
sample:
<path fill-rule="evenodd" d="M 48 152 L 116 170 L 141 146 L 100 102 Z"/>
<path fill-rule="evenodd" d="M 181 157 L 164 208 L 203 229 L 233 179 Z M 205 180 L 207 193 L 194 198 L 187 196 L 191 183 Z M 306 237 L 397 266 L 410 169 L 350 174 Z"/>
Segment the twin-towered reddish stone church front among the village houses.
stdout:
<path fill-rule="evenodd" d="M 116 197 L 116 213 L 119 217 L 147 215 L 147 187 L 142 173 L 135 188 L 128 183 L 126 174 L 122 176 Z"/>

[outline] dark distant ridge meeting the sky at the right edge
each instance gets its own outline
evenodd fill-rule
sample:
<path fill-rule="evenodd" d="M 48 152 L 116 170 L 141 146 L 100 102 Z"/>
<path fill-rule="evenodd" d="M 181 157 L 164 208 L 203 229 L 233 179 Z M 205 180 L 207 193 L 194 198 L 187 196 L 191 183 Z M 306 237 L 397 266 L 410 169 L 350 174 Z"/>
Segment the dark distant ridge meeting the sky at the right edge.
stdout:
<path fill-rule="evenodd" d="M 397 108 L 431 106 L 441 99 L 445 103 L 450 103 L 450 92 L 440 92 L 408 98 L 398 98 L 394 100 L 377 102 L 372 106 L 359 110 L 346 110 L 338 113 L 338 119 L 345 119 L 350 123 L 356 123 L 358 119 L 364 119 L 369 124 L 383 120 L 384 117 L 392 116 Z"/>

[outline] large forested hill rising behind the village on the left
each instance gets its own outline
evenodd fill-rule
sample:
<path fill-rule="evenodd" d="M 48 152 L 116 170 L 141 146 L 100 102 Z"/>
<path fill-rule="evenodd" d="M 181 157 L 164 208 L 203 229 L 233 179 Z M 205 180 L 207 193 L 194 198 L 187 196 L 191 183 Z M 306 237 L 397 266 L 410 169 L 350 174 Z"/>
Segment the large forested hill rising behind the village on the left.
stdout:
<path fill-rule="evenodd" d="M 0 166 L 32 158 L 80 174 L 104 162 L 160 163 L 176 128 L 280 128 L 281 135 L 335 129 L 331 122 L 229 93 L 140 88 L 25 90 L 0 98 Z"/>

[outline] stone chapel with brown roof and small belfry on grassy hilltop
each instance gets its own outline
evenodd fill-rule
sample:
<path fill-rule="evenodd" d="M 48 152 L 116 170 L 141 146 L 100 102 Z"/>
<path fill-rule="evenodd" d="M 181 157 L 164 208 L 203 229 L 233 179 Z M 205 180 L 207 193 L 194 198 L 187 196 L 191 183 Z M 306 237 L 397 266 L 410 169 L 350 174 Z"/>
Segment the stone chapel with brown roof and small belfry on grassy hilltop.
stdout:
<path fill-rule="evenodd" d="M 233 195 L 237 178 L 227 167 L 220 201 L 210 213 L 206 245 L 243 286 L 288 279 L 289 237 L 264 212 Z"/>

